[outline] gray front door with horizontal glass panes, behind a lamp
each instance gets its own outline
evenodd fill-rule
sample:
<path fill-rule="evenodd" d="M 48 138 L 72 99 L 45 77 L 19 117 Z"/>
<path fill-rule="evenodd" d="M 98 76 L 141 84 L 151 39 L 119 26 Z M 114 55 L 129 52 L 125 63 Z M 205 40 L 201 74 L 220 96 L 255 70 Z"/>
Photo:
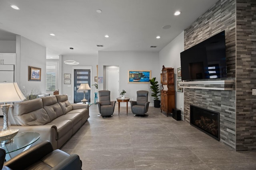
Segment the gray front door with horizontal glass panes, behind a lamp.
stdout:
<path fill-rule="evenodd" d="M 91 88 L 91 73 L 90 70 L 74 70 L 74 103 L 80 103 L 84 98 L 84 91 L 78 90 L 81 83 L 88 83 Z M 85 98 L 90 102 L 90 90 L 85 91 Z"/>

